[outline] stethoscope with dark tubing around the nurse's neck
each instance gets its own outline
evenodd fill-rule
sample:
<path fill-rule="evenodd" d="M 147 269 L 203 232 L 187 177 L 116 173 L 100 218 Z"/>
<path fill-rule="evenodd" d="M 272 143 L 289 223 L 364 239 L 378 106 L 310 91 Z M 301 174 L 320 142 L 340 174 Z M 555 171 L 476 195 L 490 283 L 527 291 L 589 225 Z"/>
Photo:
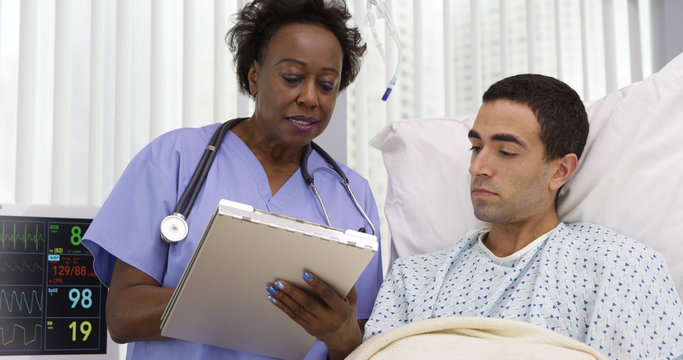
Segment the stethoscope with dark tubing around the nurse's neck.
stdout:
<path fill-rule="evenodd" d="M 197 200 L 199 190 L 201 190 L 202 186 L 204 186 L 206 176 L 209 173 L 209 169 L 211 168 L 211 164 L 213 163 L 214 158 L 216 157 L 218 148 L 220 147 L 221 143 L 223 143 L 223 138 L 225 137 L 225 134 L 230 129 L 235 127 L 235 125 L 239 124 L 240 122 L 246 119 L 247 118 L 241 118 L 226 121 L 223 124 L 221 124 L 218 127 L 218 129 L 216 129 L 216 131 L 213 133 L 213 135 L 211 136 L 211 140 L 209 140 L 209 144 L 206 146 L 206 149 L 204 150 L 202 158 L 199 160 L 199 163 L 197 164 L 197 168 L 194 170 L 194 173 L 190 178 L 190 182 L 187 184 L 185 191 L 183 191 L 183 194 L 180 196 L 180 200 L 178 200 L 178 204 L 176 204 L 175 209 L 173 209 L 173 214 L 165 217 L 164 220 L 161 221 L 161 239 L 163 241 L 172 244 L 181 241 L 187 237 L 188 225 L 185 219 L 187 219 L 187 217 L 190 215 L 190 210 L 192 210 L 192 205 L 194 205 L 195 200 Z M 326 153 L 320 146 L 318 146 L 318 144 L 310 142 L 308 145 L 306 145 L 306 149 L 304 150 L 304 153 L 301 155 L 301 175 L 303 176 L 304 181 L 306 181 L 306 184 L 311 188 L 311 191 L 313 191 L 313 194 L 315 194 L 315 196 L 318 198 L 318 202 L 320 202 L 320 206 L 323 210 L 323 213 L 325 214 L 325 221 L 327 221 L 327 225 L 329 227 L 332 227 L 330 217 L 328 216 L 327 209 L 325 208 L 325 203 L 323 202 L 323 199 L 320 197 L 318 188 L 316 188 L 315 183 L 313 182 L 313 176 L 311 176 L 311 174 L 309 174 L 308 172 L 308 157 L 311 154 L 312 150 L 317 151 L 318 154 L 320 154 L 320 156 L 322 156 L 323 159 L 325 159 L 325 161 L 330 166 L 332 166 L 332 169 L 337 173 L 337 175 L 339 175 L 339 177 L 341 178 L 341 183 L 342 185 L 344 185 L 344 188 L 346 189 L 346 192 L 349 194 L 349 197 L 353 201 L 353 204 L 356 206 L 356 209 L 358 209 L 358 212 L 360 212 L 365 221 L 368 224 L 370 224 L 372 234 L 375 235 L 375 226 L 372 225 L 372 221 L 370 221 L 370 218 L 368 218 L 368 215 L 360 206 L 358 200 L 356 200 L 356 196 L 353 194 L 353 191 L 351 191 L 351 187 L 349 186 L 349 179 L 346 177 L 346 175 L 339 167 L 337 162 L 334 161 L 334 159 L 328 153 Z M 365 228 L 360 228 L 358 231 L 365 232 Z"/>

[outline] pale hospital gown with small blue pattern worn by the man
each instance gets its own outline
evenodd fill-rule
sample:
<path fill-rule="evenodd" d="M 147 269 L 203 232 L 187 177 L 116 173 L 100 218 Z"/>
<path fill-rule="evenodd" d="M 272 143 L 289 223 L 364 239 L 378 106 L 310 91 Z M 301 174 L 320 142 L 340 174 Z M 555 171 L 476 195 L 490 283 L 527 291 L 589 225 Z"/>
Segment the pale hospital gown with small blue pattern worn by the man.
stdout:
<path fill-rule="evenodd" d="M 683 354 L 683 307 L 657 252 L 601 226 L 560 223 L 499 258 L 481 242 L 484 233 L 398 259 L 366 338 L 430 318 L 484 316 L 544 326 L 613 359 Z"/>

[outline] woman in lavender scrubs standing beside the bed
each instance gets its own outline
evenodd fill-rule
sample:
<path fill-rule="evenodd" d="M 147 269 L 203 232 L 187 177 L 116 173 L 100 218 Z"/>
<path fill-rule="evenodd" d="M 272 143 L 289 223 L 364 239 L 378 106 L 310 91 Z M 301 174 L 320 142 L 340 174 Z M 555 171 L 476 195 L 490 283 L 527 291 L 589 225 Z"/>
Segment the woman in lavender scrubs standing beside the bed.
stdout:
<path fill-rule="evenodd" d="M 365 44 L 356 28 L 346 26 L 349 19 L 341 1 L 254 0 L 240 11 L 226 39 L 241 89 L 254 99 L 255 110 L 221 143 L 187 218 L 185 240 L 162 241 L 160 223 L 173 212 L 219 124 L 160 136 L 122 174 L 85 234 L 84 244 L 95 257 L 97 275 L 109 286 L 109 331 L 114 341 L 129 344 L 128 359 L 264 358 L 163 338 L 161 314 L 219 199 L 327 223 L 317 197 L 301 176 L 300 159 L 327 127 L 338 93 L 360 69 Z M 356 209 L 330 164 L 312 151 L 308 171 L 330 222 L 341 229 L 371 229 L 372 225 L 378 229 L 377 207 L 367 181 L 340 166 L 373 224 Z M 307 358 L 342 358 L 361 341 L 364 319 L 382 280 L 380 259 L 377 252 L 345 298 L 329 294 L 322 279 L 306 273 L 302 276 L 324 301 L 284 281 L 268 288 L 270 296 L 264 285 L 263 301 L 271 301 L 320 340 Z"/>

